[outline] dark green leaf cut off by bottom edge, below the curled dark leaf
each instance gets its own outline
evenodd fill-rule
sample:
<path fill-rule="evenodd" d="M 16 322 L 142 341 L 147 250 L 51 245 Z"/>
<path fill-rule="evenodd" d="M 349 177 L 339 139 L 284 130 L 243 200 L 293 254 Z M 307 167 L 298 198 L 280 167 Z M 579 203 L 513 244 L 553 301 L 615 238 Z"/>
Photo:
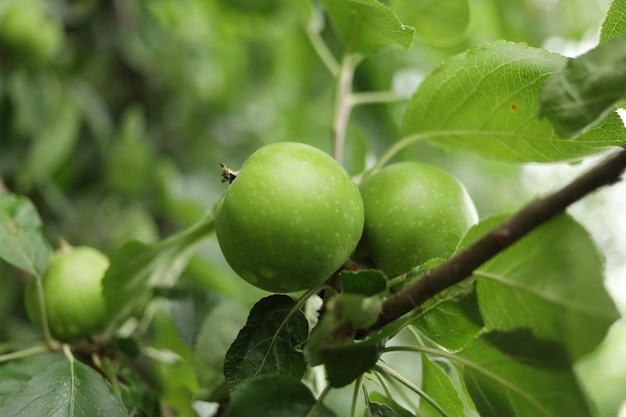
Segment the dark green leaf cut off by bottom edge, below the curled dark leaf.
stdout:
<path fill-rule="evenodd" d="M 334 417 L 298 378 L 259 375 L 232 392 L 224 417 Z"/>

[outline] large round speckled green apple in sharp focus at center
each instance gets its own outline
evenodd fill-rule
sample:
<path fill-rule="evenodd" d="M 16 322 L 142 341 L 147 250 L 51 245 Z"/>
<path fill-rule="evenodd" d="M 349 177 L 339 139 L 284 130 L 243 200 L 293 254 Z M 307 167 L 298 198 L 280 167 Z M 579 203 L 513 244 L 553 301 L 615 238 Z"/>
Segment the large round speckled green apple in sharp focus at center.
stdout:
<path fill-rule="evenodd" d="M 296 142 L 266 145 L 244 162 L 216 208 L 224 257 L 250 284 L 293 292 L 326 281 L 363 231 L 357 185 L 333 158 Z"/>

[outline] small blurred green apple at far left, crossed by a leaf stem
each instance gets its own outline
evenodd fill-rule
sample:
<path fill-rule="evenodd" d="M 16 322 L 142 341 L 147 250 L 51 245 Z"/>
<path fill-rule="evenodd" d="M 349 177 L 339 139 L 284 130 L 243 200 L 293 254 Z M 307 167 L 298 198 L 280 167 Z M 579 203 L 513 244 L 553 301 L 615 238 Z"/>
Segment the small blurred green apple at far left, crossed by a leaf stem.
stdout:
<path fill-rule="evenodd" d="M 50 257 L 42 286 L 55 339 L 70 342 L 104 330 L 108 315 L 101 283 L 108 267 L 108 258 L 87 246 L 65 248 Z M 31 322 L 42 329 L 35 279 L 26 288 L 26 311 Z"/>

